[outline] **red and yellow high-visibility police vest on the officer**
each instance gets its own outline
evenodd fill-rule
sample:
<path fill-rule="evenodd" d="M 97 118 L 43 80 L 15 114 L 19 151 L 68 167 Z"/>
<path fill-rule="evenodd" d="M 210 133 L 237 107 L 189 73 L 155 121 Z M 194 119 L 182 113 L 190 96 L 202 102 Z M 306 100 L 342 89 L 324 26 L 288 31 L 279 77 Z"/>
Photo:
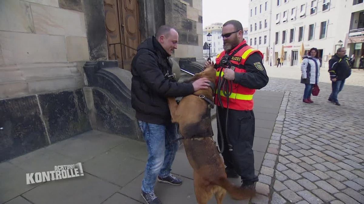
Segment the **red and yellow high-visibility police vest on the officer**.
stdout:
<path fill-rule="evenodd" d="M 241 45 L 246 44 L 246 41 L 242 41 L 239 45 L 236 46 L 233 50 L 230 51 L 229 54 L 232 54 L 234 50 L 238 49 Z M 241 48 L 236 54 L 232 56 L 232 59 L 230 62 L 232 63 L 232 69 L 234 69 L 237 73 L 246 73 L 246 70 L 244 68 L 244 64 L 246 59 L 253 53 L 259 53 L 262 58 L 263 54 L 254 48 L 252 48 L 249 45 L 245 45 L 243 48 Z M 216 57 L 216 84 L 218 84 L 219 75 L 220 72 L 222 72 L 225 68 L 222 68 L 220 66 L 221 58 L 225 55 L 225 50 L 222 51 L 222 53 L 218 54 Z M 223 77 L 223 72 L 221 73 L 221 77 Z M 221 79 L 220 79 L 221 80 Z M 238 83 L 232 83 L 233 89 L 232 94 L 229 96 L 229 109 L 234 110 L 253 110 L 254 101 L 253 101 L 253 95 L 255 93 L 255 89 L 249 89 L 247 87 L 241 86 Z M 217 90 L 215 93 L 215 104 L 218 106 L 221 106 L 217 94 L 221 96 L 221 102 L 223 107 L 227 107 L 227 98 L 223 94 L 222 90 Z"/>

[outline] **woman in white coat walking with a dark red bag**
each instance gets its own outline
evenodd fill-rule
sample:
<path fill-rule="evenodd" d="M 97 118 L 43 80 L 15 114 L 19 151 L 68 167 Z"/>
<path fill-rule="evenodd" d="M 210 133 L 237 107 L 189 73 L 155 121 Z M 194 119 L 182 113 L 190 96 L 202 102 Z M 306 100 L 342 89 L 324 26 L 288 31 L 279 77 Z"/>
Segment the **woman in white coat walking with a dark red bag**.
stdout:
<path fill-rule="evenodd" d="M 320 60 L 316 58 L 317 49 L 311 48 L 308 51 L 307 56 L 303 57 L 301 64 L 301 83 L 305 84 L 305 91 L 303 94 L 303 102 L 313 103 L 311 100 L 312 88 L 314 84 L 318 83 L 318 77 L 320 76 Z"/>

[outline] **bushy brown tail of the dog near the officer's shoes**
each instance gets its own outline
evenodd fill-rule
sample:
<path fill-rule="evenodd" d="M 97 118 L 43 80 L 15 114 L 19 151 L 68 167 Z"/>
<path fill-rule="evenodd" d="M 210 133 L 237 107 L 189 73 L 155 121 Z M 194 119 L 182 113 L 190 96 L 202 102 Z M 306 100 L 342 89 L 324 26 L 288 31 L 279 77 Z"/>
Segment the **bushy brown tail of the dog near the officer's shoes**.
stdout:
<path fill-rule="evenodd" d="M 255 195 L 255 191 L 237 187 L 236 185 L 232 184 L 227 178 L 221 178 L 218 185 L 225 188 L 227 193 L 229 193 L 229 195 L 234 200 L 244 200 Z"/>

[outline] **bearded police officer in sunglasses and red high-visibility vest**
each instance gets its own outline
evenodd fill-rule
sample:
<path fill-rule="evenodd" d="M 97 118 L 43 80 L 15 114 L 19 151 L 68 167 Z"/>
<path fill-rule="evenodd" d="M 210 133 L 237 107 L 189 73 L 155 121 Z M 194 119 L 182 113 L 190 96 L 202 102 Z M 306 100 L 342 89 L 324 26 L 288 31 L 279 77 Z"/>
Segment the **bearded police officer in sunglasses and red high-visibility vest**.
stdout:
<path fill-rule="evenodd" d="M 241 177 L 243 188 L 255 188 L 253 140 L 255 118 L 253 94 L 268 83 L 263 54 L 246 44 L 237 20 L 222 26 L 224 51 L 216 57 L 215 104 L 218 106 L 218 144 L 229 178 Z M 205 63 L 205 68 L 210 64 Z M 223 83 L 223 84 L 222 84 Z M 226 121 L 227 119 L 227 121 Z M 221 137 L 222 134 L 222 137 Z M 223 138 L 223 141 L 221 141 Z"/>

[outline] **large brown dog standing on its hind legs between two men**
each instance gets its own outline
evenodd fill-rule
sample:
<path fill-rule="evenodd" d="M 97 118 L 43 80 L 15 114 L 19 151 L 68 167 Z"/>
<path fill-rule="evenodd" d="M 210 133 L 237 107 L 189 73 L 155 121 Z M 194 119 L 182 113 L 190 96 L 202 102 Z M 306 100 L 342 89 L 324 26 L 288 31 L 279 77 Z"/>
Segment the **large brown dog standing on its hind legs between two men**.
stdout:
<path fill-rule="evenodd" d="M 214 64 L 207 67 L 203 72 L 195 74 L 188 81 L 195 81 L 201 77 L 206 77 L 211 83 L 215 83 L 216 69 L 214 69 Z M 215 195 L 217 203 L 222 204 L 226 191 L 236 200 L 253 196 L 253 191 L 239 188 L 227 179 L 223 159 L 212 140 L 209 104 L 198 95 L 205 95 L 213 101 L 212 89 L 196 91 L 194 95 L 182 98 L 179 104 L 174 98 L 168 98 L 172 122 L 179 124 L 179 130 L 186 138 L 183 140 L 183 145 L 193 168 L 197 202 L 207 204 L 207 201 Z"/>

